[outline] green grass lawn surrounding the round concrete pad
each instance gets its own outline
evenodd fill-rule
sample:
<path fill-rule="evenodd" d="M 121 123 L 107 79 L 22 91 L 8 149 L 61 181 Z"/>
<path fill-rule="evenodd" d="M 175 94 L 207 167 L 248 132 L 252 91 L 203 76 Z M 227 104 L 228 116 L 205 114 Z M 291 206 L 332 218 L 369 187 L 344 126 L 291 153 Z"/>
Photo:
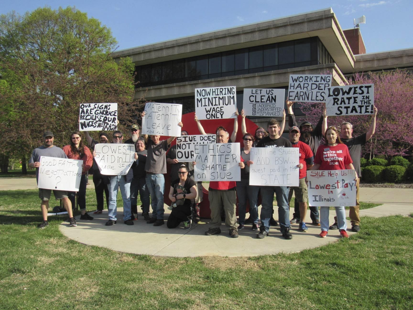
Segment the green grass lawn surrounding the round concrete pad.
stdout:
<path fill-rule="evenodd" d="M 72 241 L 65 217 L 37 229 L 37 190 L 0 195 L 0 309 L 413 308 L 411 217 L 363 217 L 360 233 L 300 253 L 160 258 Z"/>

